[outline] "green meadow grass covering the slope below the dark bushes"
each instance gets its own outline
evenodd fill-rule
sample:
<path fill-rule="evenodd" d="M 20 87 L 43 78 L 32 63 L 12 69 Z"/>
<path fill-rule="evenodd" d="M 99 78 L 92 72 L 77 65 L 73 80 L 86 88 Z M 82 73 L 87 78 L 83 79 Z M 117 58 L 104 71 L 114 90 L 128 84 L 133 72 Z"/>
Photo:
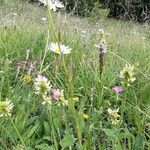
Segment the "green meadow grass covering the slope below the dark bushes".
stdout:
<path fill-rule="evenodd" d="M 42 21 L 43 17 L 52 17 L 53 22 Z M 46 8 L 18 0 L 1 4 L 0 19 L 0 101 L 8 98 L 14 105 L 11 116 L 0 117 L 1 150 L 150 149 L 147 24 L 107 18 L 89 22 L 65 12 L 49 16 Z M 56 42 L 52 23 L 56 32 L 60 27 L 58 40 L 72 48 L 62 59 L 45 51 L 47 43 Z M 101 78 L 99 50 L 94 46 L 100 42 L 99 29 L 104 29 L 107 39 Z M 126 64 L 134 65 L 136 80 L 122 85 L 123 91 L 116 94 L 112 88 L 121 85 L 119 75 Z M 34 85 L 39 74 L 64 90 L 68 106 L 55 101 L 41 104 Z M 30 82 L 25 75 L 30 75 Z M 108 108 L 119 108 L 116 125 Z"/>

